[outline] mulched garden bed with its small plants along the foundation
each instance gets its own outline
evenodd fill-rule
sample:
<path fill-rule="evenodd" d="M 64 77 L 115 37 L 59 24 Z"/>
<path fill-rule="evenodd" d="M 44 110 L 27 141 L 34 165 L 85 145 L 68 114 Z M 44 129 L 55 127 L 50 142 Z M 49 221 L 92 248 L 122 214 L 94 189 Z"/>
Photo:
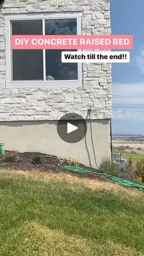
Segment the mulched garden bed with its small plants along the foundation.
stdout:
<path fill-rule="evenodd" d="M 43 157 L 44 156 L 44 157 Z M 48 155 L 47 155 L 48 156 Z M 71 159 L 73 162 L 73 159 Z M 63 165 L 75 165 L 77 167 L 82 167 L 87 170 L 92 170 L 93 172 L 98 172 L 98 170 L 84 166 L 83 164 L 79 164 L 77 162 L 71 163 L 66 161 L 63 162 Z M 106 181 L 103 177 L 99 175 L 91 175 L 91 174 L 79 174 L 77 172 L 71 172 L 68 170 L 65 170 L 58 166 L 60 163 L 60 160 L 56 158 L 55 156 L 49 156 L 46 157 L 45 154 L 41 154 L 38 152 L 25 152 L 25 153 L 19 153 L 19 152 L 10 152 L 6 151 L 5 155 L 0 155 L 0 169 L 5 170 L 38 170 L 40 172 L 68 172 L 73 175 L 79 176 L 79 177 L 90 177 L 97 180 Z M 107 169 L 107 168 L 106 168 Z M 105 172 L 105 170 L 104 170 Z M 110 172 L 106 172 L 109 173 Z M 112 174 L 111 174 L 112 175 Z M 119 175 L 114 175 L 117 177 L 124 178 L 126 180 L 133 180 L 132 175 L 130 172 L 121 172 L 119 171 Z"/>

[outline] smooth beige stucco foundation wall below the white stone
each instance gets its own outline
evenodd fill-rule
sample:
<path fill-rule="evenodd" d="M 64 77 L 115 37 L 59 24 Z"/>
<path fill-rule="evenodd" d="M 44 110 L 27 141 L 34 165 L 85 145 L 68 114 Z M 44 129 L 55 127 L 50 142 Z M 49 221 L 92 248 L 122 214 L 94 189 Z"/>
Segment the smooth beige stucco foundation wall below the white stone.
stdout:
<path fill-rule="evenodd" d="M 96 161 L 99 164 L 103 158 L 110 158 L 109 120 L 93 120 L 92 130 Z M 60 139 L 57 134 L 57 121 L 1 122 L 0 141 L 4 142 L 6 150 L 48 153 L 61 158 L 71 156 L 79 163 L 96 167 L 88 121 L 86 136 L 74 144 Z"/>

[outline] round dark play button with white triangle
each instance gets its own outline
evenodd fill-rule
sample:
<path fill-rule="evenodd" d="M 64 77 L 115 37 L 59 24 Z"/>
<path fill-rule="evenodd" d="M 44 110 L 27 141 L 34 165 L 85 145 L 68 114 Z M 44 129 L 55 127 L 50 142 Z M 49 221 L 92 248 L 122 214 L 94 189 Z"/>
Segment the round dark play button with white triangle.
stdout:
<path fill-rule="evenodd" d="M 65 142 L 79 142 L 87 133 L 87 123 L 81 115 L 68 113 L 57 123 L 57 133 Z"/>

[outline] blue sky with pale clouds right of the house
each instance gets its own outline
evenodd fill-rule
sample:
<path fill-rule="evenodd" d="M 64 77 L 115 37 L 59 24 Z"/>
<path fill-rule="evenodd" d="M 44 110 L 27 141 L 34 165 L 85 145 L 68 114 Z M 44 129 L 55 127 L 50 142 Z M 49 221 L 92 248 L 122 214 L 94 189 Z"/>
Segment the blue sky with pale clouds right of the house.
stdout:
<path fill-rule="evenodd" d="M 112 64 L 112 131 L 144 134 L 144 1 L 110 2 L 112 34 L 134 35 L 131 62 Z"/>

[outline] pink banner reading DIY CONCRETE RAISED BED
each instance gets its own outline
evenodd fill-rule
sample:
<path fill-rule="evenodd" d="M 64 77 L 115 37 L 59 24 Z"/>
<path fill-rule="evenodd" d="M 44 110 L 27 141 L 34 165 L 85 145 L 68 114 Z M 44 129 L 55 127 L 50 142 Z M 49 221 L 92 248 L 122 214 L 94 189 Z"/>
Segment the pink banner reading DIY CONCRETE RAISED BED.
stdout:
<path fill-rule="evenodd" d="M 132 35 L 12 35 L 12 49 L 132 49 Z"/>

